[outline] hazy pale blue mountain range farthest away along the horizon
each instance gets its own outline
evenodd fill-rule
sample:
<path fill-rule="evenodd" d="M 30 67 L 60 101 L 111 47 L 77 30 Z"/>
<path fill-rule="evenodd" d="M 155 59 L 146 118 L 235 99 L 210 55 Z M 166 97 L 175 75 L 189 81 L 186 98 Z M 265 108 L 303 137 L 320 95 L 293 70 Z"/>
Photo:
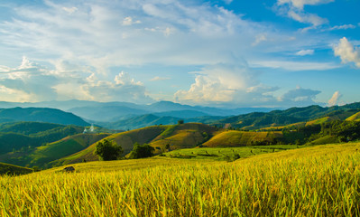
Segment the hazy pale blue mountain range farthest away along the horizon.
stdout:
<path fill-rule="evenodd" d="M 138 105 L 129 102 L 96 102 L 85 100 L 68 101 L 43 101 L 43 102 L 0 102 L 0 108 L 10 109 L 14 107 L 28 108 L 52 108 L 69 111 L 88 122 L 102 121 L 115 122 L 119 119 L 134 118 L 146 114 L 159 117 L 171 116 L 174 118 L 196 118 L 200 116 L 234 116 L 254 111 L 267 112 L 272 108 L 211 108 L 200 106 L 182 105 L 171 101 L 159 101 L 150 105 Z"/>

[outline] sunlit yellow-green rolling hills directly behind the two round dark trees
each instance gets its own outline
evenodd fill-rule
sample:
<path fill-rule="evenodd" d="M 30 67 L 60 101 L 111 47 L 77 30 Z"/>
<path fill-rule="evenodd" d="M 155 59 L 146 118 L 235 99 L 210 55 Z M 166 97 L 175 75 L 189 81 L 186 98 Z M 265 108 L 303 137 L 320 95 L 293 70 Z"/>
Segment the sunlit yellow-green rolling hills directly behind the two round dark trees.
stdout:
<path fill-rule="evenodd" d="M 143 127 L 106 137 L 106 139 L 114 140 L 117 145 L 123 147 L 124 156 L 132 151 L 134 143 L 147 143 L 155 148 L 155 154 L 161 154 L 169 150 L 196 146 L 267 145 L 276 143 L 277 138 L 282 138 L 282 132 L 244 132 L 218 129 L 200 123 Z M 86 161 L 97 161 L 98 156 L 94 154 L 95 150 L 96 144 L 93 144 L 76 154 L 55 160 L 51 162 L 51 165 L 74 164 L 82 162 L 84 159 Z"/>

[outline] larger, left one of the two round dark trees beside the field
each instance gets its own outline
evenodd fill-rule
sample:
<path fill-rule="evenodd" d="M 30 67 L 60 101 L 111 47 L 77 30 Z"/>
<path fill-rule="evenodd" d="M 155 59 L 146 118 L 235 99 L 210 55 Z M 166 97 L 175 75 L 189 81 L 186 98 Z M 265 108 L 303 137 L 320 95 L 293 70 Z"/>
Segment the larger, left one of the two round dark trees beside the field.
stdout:
<path fill-rule="evenodd" d="M 97 143 L 97 150 L 95 154 L 99 156 L 100 159 L 108 161 L 108 160 L 116 160 L 121 154 L 123 154 L 124 150 L 121 146 L 117 146 L 117 144 L 108 139 L 104 139 Z"/>

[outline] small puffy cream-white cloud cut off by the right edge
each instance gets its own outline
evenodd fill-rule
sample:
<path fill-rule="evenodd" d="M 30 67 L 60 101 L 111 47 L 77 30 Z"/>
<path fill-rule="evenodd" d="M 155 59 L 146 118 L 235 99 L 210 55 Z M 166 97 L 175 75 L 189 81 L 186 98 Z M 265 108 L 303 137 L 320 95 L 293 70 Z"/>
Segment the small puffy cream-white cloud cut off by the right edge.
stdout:
<path fill-rule="evenodd" d="M 343 63 L 354 62 L 355 66 L 360 68 L 360 49 L 348 42 L 346 37 L 340 39 L 333 49 L 334 55 L 339 56 Z"/>

